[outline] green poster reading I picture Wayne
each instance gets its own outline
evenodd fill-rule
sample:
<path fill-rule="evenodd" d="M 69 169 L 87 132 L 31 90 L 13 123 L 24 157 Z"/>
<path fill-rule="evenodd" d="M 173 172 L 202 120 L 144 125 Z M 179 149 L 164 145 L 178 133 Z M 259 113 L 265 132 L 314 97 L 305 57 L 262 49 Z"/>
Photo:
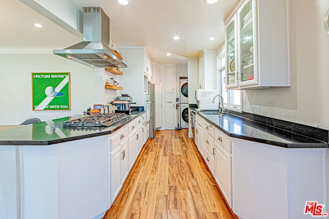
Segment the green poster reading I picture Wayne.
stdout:
<path fill-rule="evenodd" d="M 32 110 L 71 110 L 69 72 L 32 72 Z"/>

